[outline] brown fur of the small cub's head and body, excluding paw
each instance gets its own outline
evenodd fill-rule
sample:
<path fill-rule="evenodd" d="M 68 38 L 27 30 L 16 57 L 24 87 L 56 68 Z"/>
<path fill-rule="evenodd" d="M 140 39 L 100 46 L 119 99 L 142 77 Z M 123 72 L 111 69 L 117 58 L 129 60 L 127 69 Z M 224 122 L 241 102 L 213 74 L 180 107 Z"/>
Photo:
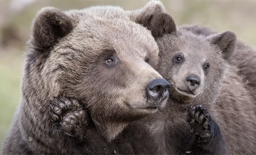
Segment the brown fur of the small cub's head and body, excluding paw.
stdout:
<path fill-rule="evenodd" d="M 209 145 L 203 146 L 205 150 L 210 149 L 216 154 L 255 154 L 256 105 L 243 80 L 251 78 L 253 83 L 255 76 L 252 73 L 249 77 L 246 73 L 251 71 L 236 62 L 239 59 L 235 58 L 234 52 L 237 53 L 239 46 L 235 34 L 230 31 L 209 33 L 205 29 L 197 29 L 195 33 L 186 28 L 170 32 L 176 27 L 173 23 L 171 17 L 164 13 L 154 15 L 149 21 L 142 23 L 155 34 L 157 31 L 155 39 L 160 50 L 157 70 L 172 86 L 168 101 L 169 108 L 172 107 L 170 109 L 173 110 L 173 113 L 170 112 L 169 129 L 172 132 L 169 136 L 172 140 L 190 136 L 180 134 L 188 131 L 188 126 L 180 120 L 180 115 L 183 108 L 200 104 L 206 107 L 211 118 L 220 127 L 219 129 L 214 123 L 214 131 L 217 132 Z M 170 25 L 174 28 L 170 28 Z M 239 69 L 237 66 L 240 66 Z M 182 143 L 187 144 L 189 141 Z M 179 148 L 173 142 L 169 145 Z"/>

